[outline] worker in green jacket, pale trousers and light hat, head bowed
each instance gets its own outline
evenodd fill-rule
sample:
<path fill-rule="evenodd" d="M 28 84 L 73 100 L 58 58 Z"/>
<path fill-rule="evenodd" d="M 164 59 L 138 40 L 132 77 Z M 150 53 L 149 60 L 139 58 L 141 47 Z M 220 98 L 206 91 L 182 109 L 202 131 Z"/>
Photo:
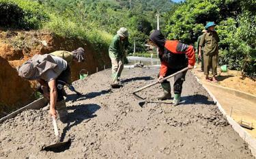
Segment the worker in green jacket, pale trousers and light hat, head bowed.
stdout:
<path fill-rule="evenodd" d="M 124 69 L 124 59 L 128 48 L 128 30 L 122 27 L 117 31 L 109 46 L 109 57 L 112 63 L 112 78 L 117 75 L 116 82 L 119 83 L 122 70 Z M 117 72 L 118 68 L 119 72 Z"/>

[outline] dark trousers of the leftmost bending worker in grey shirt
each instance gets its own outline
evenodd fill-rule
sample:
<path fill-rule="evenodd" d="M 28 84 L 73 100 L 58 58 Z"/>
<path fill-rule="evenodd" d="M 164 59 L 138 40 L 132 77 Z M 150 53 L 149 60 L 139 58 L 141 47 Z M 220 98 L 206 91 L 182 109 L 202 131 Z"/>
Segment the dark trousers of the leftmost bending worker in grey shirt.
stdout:
<path fill-rule="evenodd" d="M 64 100 L 63 98 L 63 88 L 64 85 L 66 85 L 68 83 L 68 76 L 70 76 L 70 66 L 67 66 L 66 70 L 63 70 L 63 72 L 61 72 L 61 74 L 59 74 L 59 76 L 56 78 L 56 88 L 57 88 L 57 102 Z M 42 91 L 42 85 L 38 84 L 36 86 L 37 91 L 39 91 L 40 93 L 43 93 Z M 48 91 L 50 91 L 50 89 L 48 88 Z"/>

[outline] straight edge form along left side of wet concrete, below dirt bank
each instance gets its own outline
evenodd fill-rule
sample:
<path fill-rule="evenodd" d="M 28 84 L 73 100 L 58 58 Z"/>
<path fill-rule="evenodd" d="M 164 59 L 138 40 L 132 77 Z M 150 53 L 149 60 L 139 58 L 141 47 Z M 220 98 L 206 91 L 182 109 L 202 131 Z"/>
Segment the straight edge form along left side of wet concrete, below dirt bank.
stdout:
<path fill-rule="evenodd" d="M 35 100 L 35 101 L 27 104 L 26 106 L 23 106 L 22 108 L 10 113 L 9 115 L 2 117 L 0 119 L 0 124 L 3 123 L 3 121 L 5 121 L 6 119 L 16 117 L 16 115 L 18 115 L 19 113 L 21 113 L 27 109 L 41 109 L 42 107 L 46 106 L 46 104 L 47 104 L 47 100 L 45 98 L 40 98 L 38 100 Z"/>

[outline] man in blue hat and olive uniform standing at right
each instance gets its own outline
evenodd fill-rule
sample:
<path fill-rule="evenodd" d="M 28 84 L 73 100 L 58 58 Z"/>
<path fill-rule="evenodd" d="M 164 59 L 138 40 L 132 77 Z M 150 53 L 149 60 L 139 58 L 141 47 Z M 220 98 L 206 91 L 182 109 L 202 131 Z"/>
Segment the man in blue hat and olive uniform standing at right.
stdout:
<path fill-rule="evenodd" d="M 199 43 L 199 58 L 201 58 L 201 48 L 203 47 L 203 64 L 206 81 L 218 82 L 216 80 L 218 66 L 218 33 L 215 31 L 216 24 L 209 22 L 205 25 L 207 33 L 203 33 Z M 209 71 L 212 68 L 212 79 L 209 78 Z"/>

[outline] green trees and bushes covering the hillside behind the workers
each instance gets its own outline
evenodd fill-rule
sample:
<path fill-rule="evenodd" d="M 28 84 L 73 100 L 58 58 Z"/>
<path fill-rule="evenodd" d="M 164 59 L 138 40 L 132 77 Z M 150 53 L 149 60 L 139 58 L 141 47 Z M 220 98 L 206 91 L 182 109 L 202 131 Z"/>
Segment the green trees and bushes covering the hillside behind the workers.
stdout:
<path fill-rule="evenodd" d="M 79 38 L 97 50 L 107 49 L 120 27 L 130 33 L 129 53 L 136 42 L 137 54 L 156 28 L 159 11 L 160 29 L 171 40 L 194 44 L 205 23 L 218 24 L 221 42 L 219 64 L 256 76 L 255 0 L 0 0 L 0 27 L 46 30 L 67 38 Z"/>

